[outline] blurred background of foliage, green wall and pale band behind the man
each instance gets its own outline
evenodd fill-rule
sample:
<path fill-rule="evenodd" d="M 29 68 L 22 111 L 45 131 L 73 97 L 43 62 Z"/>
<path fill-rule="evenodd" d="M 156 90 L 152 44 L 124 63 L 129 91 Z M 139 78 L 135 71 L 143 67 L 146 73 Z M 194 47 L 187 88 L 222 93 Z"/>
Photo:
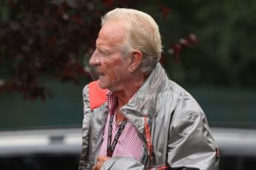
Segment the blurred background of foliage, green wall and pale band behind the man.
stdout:
<path fill-rule="evenodd" d="M 116 7 L 159 24 L 161 62 L 200 103 L 220 169 L 256 166 L 256 1 L 0 1 L 0 169 L 77 169 L 84 58 Z"/>

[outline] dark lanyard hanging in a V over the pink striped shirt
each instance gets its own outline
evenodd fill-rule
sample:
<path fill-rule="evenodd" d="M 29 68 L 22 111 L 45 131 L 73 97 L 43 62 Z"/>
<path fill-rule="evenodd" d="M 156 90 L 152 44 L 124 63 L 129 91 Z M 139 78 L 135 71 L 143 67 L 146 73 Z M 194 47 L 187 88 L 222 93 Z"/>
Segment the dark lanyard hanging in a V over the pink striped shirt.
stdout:
<path fill-rule="evenodd" d="M 112 140 L 112 129 L 113 129 L 113 120 L 114 120 L 114 114 L 111 114 L 111 118 L 109 120 L 109 127 L 108 127 L 108 149 L 107 149 L 107 156 L 112 157 L 112 154 L 114 152 L 114 149 L 116 147 L 116 143 L 122 133 L 122 130 L 125 129 L 125 124 L 127 123 L 127 120 L 122 120 L 122 123 L 119 126 L 118 131 L 116 132 L 116 135 L 114 137 L 113 143 L 111 144 Z"/>

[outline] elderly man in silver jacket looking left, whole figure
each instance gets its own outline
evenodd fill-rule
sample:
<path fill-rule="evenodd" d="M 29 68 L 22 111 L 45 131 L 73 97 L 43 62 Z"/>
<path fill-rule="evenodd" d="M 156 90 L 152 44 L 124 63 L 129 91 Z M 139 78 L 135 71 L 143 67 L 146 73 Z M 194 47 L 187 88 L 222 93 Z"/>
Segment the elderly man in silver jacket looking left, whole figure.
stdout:
<path fill-rule="evenodd" d="M 206 115 L 159 61 L 151 16 L 115 9 L 102 18 L 89 64 L 99 80 L 83 89 L 79 169 L 218 169 Z"/>

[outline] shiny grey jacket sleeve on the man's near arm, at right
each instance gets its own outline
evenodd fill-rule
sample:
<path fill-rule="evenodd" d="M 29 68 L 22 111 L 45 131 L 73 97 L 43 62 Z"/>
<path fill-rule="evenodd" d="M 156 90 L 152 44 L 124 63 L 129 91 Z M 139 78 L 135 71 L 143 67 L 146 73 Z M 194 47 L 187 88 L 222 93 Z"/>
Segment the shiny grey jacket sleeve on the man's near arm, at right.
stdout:
<path fill-rule="evenodd" d="M 217 145 L 206 116 L 193 98 L 180 100 L 170 123 L 168 164 L 171 169 L 217 170 Z"/>

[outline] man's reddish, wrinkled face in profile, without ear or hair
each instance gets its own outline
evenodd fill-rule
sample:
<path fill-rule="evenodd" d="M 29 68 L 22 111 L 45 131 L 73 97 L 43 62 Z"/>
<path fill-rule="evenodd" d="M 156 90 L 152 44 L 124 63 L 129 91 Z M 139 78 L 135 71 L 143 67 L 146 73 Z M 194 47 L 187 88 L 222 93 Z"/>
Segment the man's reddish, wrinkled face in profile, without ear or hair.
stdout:
<path fill-rule="evenodd" d="M 112 92 L 122 90 L 131 78 L 127 57 L 122 56 L 120 44 L 125 40 L 125 29 L 118 21 L 104 24 L 96 39 L 96 50 L 89 64 L 99 74 L 99 86 Z"/>

